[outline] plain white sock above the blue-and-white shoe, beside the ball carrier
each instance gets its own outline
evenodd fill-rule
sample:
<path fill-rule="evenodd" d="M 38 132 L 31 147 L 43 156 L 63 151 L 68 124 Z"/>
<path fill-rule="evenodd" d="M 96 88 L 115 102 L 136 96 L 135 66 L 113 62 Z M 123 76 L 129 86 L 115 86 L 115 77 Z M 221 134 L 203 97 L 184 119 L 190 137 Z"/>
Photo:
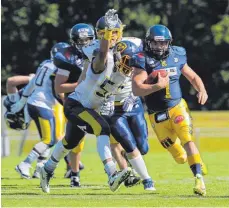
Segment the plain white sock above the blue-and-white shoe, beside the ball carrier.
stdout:
<path fill-rule="evenodd" d="M 145 161 L 141 155 L 133 159 L 129 159 L 129 162 L 143 180 L 151 178 L 148 174 Z"/>

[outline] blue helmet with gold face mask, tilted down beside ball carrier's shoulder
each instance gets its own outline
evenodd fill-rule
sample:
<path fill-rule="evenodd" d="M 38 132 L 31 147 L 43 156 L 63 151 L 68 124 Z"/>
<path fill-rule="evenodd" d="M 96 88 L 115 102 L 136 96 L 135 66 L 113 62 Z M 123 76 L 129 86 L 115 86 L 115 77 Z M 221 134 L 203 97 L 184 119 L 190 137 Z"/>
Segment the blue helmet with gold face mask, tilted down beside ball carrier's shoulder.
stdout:
<path fill-rule="evenodd" d="M 114 47 L 115 69 L 125 76 L 131 76 L 130 59 L 138 52 L 140 52 L 140 49 L 133 42 L 128 40 L 118 42 Z"/>

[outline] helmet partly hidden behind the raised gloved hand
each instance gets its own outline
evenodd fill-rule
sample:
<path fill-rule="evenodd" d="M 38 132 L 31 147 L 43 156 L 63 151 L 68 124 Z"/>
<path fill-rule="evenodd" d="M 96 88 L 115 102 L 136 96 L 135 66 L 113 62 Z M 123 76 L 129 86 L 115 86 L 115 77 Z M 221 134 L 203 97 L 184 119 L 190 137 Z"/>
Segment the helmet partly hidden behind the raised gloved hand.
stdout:
<path fill-rule="evenodd" d="M 98 39 L 102 39 L 105 33 L 105 16 L 100 17 L 96 22 L 95 31 Z M 116 24 L 115 29 L 113 31 L 118 32 L 117 42 L 122 39 L 123 29 L 125 25 L 122 24 L 122 21 L 119 19 L 119 22 Z"/>

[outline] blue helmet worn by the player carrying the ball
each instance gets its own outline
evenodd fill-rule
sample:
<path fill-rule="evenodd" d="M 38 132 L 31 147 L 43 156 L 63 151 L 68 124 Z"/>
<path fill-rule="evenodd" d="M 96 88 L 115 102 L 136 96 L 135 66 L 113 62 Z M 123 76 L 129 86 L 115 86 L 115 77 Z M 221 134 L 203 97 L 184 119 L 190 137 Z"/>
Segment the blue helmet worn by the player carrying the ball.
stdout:
<path fill-rule="evenodd" d="M 165 59 L 169 55 L 169 45 L 171 42 L 171 32 L 164 25 L 154 25 L 146 33 L 146 51 L 157 60 Z"/>

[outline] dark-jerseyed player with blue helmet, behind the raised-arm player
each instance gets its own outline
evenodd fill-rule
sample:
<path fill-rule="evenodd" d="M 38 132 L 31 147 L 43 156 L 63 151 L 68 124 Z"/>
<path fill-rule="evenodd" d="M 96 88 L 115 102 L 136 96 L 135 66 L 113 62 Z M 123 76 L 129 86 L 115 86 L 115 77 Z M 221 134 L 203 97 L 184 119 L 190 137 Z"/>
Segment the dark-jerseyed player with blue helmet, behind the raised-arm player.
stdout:
<path fill-rule="evenodd" d="M 82 47 L 88 46 L 95 39 L 92 26 L 85 23 L 74 25 L 69 36 L 71 45 L 66 48 L 52 49 L 55 53 L 53 55 L 54 64 L 58 67 L 55 76 L 55 91 L 65 93 L 66 96 L 74 91 L 83 68 L 86 68 L 88 64 L 82 53 Z M 65 161 L 69 164 L 65 177 L 71 178 L 71 187 L 80 186 L 80 170 L 84 168 L 80 162 L 83 147 L 84 140 L 65 156 Z"/>

